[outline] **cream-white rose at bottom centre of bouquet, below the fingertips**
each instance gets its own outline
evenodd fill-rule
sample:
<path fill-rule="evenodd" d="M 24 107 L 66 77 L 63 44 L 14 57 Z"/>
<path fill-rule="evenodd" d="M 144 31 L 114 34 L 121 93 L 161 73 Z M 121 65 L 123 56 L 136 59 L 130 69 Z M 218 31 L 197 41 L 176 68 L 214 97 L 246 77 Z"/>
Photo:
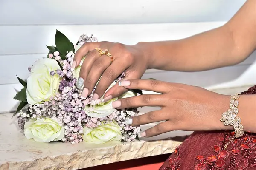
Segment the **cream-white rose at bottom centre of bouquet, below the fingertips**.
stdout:
<path fill-rule="evenodd" d="M 84 127 L 82 138 L 84 142 L 92 144 L 104 144 L 109 141 L 118 141 L 122 139 L 121 127 L 111 121 L 108 124 L 102 123 L 99 127 Z"/>

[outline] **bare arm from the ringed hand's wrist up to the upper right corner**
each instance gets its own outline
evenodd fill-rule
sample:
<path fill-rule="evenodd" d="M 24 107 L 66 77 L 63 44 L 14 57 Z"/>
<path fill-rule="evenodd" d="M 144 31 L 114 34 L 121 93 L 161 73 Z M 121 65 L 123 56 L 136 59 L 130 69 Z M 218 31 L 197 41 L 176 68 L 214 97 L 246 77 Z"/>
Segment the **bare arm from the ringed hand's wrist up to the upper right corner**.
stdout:
<path fill-rule="evenodd" d="M 149 69 L 203 71 L 235 65 L 256 48 L 255 18 L 256 1 L 248 0 L 224 26 L 182 40 L 138 46 L 148 56 Z"/>

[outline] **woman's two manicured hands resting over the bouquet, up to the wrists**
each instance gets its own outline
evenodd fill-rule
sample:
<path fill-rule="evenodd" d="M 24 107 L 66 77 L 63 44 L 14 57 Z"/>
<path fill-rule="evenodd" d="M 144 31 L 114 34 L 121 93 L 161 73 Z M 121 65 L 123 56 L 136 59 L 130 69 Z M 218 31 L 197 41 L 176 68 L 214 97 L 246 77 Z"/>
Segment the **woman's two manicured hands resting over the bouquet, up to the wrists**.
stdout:
<path fill-rule="evenodd" d="M 108 56 L 99 56 L 95 48 L 109 49 L 113 62 Z M 125 71 L 126 77 L 109 89 L 104 95 L 104 102 L 113 97 L 121 96 L 128 89 L 154 91 L 160 94 L 140 95 L 131 98 L 119 99 L 112 103 L 113 108 L 136 108 L 143 106 L 158 106 L 161 109 L 126 120 L 126 124 L 144 125 L 163 121 L 154 127 L 145 130 L 141 137 L 156 136 L 172 130 L 223 130 L 226 129 L 219 121 L 221 114 L 229 106 L 229 96 L 216 94 L 203 88 L 177 83 L 161 82 L 157 80 L 140 80 L 150 64 L 150 55 L 143 53 L 143 45 L 122 45 L 112 42 L 85 43 L 76 52 L 72 67 L 87 57 L 81 66 L 79 77 L 82 77 L 87 94 L 102 75 L 93 99 L 99 99 L 109 85 Z M 82 93 L 83 95 L 84 93 Z M 84 98 L 86 96 L 83 96 Z"/>

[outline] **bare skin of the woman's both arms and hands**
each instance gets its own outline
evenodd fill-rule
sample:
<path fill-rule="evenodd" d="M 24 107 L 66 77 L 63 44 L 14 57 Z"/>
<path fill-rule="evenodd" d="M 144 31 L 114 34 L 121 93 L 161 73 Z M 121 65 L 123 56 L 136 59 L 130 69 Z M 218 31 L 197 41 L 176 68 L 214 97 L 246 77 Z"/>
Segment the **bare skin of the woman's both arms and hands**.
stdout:
<path fill-rule="evenodd" d="M 113 62 L 111 63 L 106 55 L 100 57 L 99 52 L 95 50 L 97 47 L 103 50 L 108 49 L 113 56 Z M 135 107 L 134 105 L 144 106 L 146 102 L 147 105 L 162 108 L 155 114 L 146 113 L 142 118 L 140 116 L 133 118 L 134 125 L 165 121 L 141 136 L 154 136 L 170 130 L 222 130 L 232 128 L 224 126 L 219 121 L 221 114 L 228 109 L 230 96 L 189 85 L 134 79 L 140 79 L 145 70 L 151 68 L 171 71 L 204 71 L 236 65 L 244 61 L 255 49 L 256 0 L 247 0 L 224 26 L 182 40 L 140 42 L 136 45 L 113 42 L 85 43 L 76 52 L 71 67 L 77 67 L 81 59 L 87 55 L 79 75 L 85 80 L 82 92 L 84 98 L 92 92 L 101 75 L 102 78 L 96 87 L 93 99 L 102 97 L 109 85 L 124 71 L 126 77 L 122 82 L 129 80 L 131 85 L 123 86 L 121 83 L 120 86 L 113 86 L 104 95 L 104 102 L 122 95 L 129 88 L 156 92 L 165 89 L 162 91 L 163 95 L 149 96 L 149 98 L 146 98 L 147 95 L 142 95 L 118 100 L 116 103 L 119 103 L 119 106 L 112 103 L 113 107 L 129 108 Z M 136 81 L 135 85 L 134 81 Z M 255 96 L 245 95 L 239 99 L 239 116 L 242 119 L 244 130 L 253 133 L 256 133 L 256 127 L 253 125 L 256 118 Z M 200 125 L 195 127 L 195 123 L 199 121 Z"/>

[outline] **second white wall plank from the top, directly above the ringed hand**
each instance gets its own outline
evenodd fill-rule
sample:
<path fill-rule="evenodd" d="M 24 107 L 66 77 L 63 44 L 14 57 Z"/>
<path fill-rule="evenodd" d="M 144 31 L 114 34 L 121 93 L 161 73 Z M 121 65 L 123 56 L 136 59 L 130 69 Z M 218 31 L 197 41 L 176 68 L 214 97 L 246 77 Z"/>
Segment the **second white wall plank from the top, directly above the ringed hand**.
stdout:
<path fill-rule="evenodd" d="M 83 33 L 94 34 L 99 41 L 128 45 L 140 41 L 175 40 L 224 25 L 225 22 L 164 23 L 129 25 L 52 25 L 0 26 L 0 55 L 48 53 L 46 45 L 54 45 L 56 29 L 76 43 Z M 3 41 L 4 40 L 4 41 Z"/>

